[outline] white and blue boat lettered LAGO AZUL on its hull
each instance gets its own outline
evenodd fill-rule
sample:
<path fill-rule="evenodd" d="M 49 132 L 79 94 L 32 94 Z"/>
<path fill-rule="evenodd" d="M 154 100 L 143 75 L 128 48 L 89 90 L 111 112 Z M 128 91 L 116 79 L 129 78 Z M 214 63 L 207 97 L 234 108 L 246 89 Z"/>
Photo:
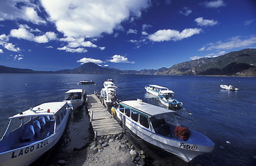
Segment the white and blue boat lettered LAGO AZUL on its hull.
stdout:
<path fill-rule="evenodd" d="M 65 130 L 70 110 L 67 102 L 48 102 L 8 118 L 0 165 L 27 166 L 51 149 Z"/>

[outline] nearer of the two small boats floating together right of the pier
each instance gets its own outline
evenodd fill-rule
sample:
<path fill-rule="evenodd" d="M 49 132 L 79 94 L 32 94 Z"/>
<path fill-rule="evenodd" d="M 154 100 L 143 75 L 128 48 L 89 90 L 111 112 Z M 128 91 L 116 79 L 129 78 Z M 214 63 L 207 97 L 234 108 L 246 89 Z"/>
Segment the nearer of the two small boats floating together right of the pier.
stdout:
<path fill-rule="evenodd" d="M 182 102 L 173 98 L 173 91 L 164 90 L 160 91 L 157 98 L 158 100 L 167 106 L 169 109 L 180 109 L 182 107 Z"/>

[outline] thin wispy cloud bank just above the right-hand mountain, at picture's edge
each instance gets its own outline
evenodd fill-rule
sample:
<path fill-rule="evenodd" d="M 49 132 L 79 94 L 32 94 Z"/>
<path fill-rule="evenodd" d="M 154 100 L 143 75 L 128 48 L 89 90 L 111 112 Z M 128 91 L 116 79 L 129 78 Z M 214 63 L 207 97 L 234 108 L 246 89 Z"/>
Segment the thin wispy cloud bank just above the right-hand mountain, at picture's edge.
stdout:
<path fill-rule="evenodd" d="M 215 43 L 206 44 L 199 50 L 230 50 L 233 48 L 246 48 L 256 44 L 256 35 L 241 39 L 241 37 L 232 37 L 225 42 L 219 41 Z"/>

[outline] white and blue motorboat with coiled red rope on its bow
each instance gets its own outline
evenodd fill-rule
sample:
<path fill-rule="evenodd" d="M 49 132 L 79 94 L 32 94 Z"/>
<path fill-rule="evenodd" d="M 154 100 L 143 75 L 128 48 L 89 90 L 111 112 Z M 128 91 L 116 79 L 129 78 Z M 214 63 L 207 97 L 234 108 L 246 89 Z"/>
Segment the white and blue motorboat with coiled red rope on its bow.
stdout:
<path fill-rule="evenodd" d="M 146 142 L 175 154 L 189 162 L 196 156 L 211 152 L 214 142 L 203 133 L 180 127 L 175 111 L 142 100 L 129 100 L 112 107 L 112 115 Z"/>

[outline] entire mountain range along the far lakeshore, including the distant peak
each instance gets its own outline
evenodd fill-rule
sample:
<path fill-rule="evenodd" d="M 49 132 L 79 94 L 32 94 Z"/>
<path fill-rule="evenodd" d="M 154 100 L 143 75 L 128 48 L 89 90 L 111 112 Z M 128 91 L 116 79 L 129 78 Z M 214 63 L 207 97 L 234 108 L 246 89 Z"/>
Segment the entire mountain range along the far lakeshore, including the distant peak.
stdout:
<path fill-rule="evenodd" d="M 219 57 L 203 57 L 175 64 L 170 68 L 121 71 L 101 67 L 92 62 L 72 70 L 54 72 L 0 66 L 0 73 L 78 73 L 78 74 L 136 74 L 136 75 L 237 75 L 256 76 L 256 49 L 238 50 Z"/>

